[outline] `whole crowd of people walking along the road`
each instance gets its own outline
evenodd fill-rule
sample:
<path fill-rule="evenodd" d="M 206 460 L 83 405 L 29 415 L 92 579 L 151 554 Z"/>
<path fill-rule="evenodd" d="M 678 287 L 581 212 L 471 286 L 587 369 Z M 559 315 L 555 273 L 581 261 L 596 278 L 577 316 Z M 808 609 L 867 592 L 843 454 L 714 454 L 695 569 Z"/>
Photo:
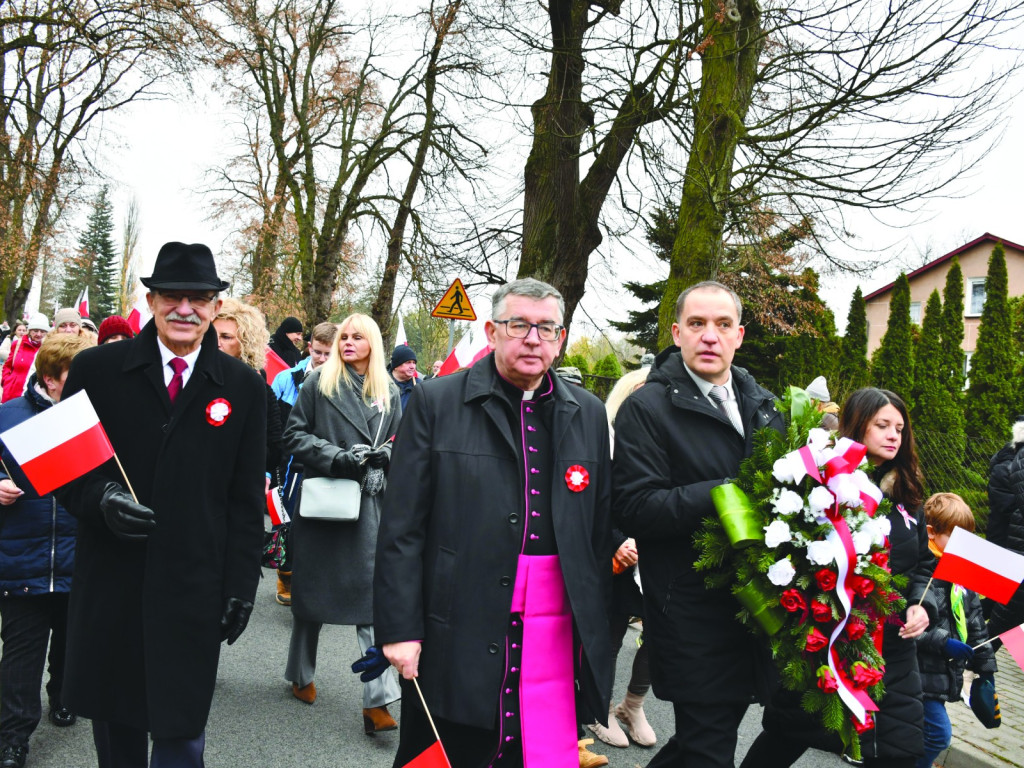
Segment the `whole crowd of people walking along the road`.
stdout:
<path fill-rule="evenodd" d="M 292 614 L 292 695 L 316 700 L 324 626 L 354 627 L 364 730 L 399 729 L 396 768 L 438 736 L 454 768 L 605 765 L 593 737 L 660 743 L 652 768 L 725 768 L 754 701 L 764 730 L 744 768 L 843 752 L 780 686 L 728 589 L 693 566 L 712 488 L 758 430 L 785 429 L 773 393 L 733 366 L 729 288 L 683 291 L 673 345 L 605 404 L 553 368 L 564 304 L 536 280 L 495 293 L 490 354 L 443 377 L 439 364 L 421 376 L 408 345 L 388 353 L 360 313 L 270 334 L 259 309 L 221 297 L 206 246 L 168 243 L 141 282 L 153 319 L 138 333 L 119 316 L 90 329 L 75 309 L 0 329 L 0 432 L 85 391 L 119 457 L 41 496 L 0 454 L 0 768 L 29 762 L 47 662 L 49 720 L 88 718 L 100 768 L 203 766 L 220 645 L 247 626 L 261 557 Z M 286 367 L 269 381 L 268 350 Z M 965 669 L 994 690 L 989 640 L 1024 621 L 1024 591 L 986 622 L 977 595 L 929 589 L 973 512 L 926 498 L 898 393 L 857 390 L 838 422 L 828 406 L 823 424 L 865 446 L 893 502 L 888 561 L 908 605 L 880 638 L 886 692 L 864 762 L 928 768 Z M 1024 419 L 992 460 L 988 527 L 1017 551 L 1022 446 Z M 219 470 L 181 483 L 197 464 Z M 264 530 L 274 495 L 290 521 Z M 667 738 L 644 714 L 651 690 L 673 708 Z"/>

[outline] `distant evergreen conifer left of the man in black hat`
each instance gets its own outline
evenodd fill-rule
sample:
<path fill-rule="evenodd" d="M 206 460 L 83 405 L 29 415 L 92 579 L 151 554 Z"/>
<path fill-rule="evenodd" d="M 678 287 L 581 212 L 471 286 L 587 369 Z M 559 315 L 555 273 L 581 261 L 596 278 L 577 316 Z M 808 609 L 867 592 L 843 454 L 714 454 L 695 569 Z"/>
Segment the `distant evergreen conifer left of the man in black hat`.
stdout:
<path fill-rule="evenodd" d="M 114 207 L 109 189 L 103 186 L 92 203 L 77 251 L 65 265 L 65 284 L 60 292 L 60 306 L 74 306 L 79 294 L 88 286 L 89 315 L 97 326 L 120 309 L 121 261 L 113 233 Z"/>

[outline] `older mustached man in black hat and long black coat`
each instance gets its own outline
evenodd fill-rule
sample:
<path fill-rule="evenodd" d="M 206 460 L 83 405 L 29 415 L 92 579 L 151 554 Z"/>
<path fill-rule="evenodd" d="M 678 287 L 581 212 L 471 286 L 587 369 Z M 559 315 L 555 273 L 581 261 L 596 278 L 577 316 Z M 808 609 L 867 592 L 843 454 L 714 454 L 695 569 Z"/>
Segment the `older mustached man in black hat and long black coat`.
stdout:
<path fill-rule="evenodd" d="M 204 245 L 168 243 L 138 336 L 78 355 L 114 461 L 58 496 L 79 518 L 63 701 L 101 768 L 202 766 L 220 644 L 246 627 L 263 540 L 266 395 L 217 349 L 227 283 Z"/>

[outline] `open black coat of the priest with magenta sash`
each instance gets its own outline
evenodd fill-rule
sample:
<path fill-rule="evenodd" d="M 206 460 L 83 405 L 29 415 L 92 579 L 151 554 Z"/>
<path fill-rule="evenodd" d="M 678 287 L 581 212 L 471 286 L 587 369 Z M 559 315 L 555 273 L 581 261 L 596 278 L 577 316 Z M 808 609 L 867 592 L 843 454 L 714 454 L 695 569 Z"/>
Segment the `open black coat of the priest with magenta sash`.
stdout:
<path fill-rule="evenodd" d="M 582 654 L 579 722 L 605 721 L 611 468 L 604 407 L 554 379 L 552 515 Z M 503 401 L 504 400 L 504 401 Z M 379 645 L 422 640 L 420 684 L 435 717 L 494 728 L 523 535 L 521 437 L 512 433 L 493 355 L 416 387 L 391 453 L 374 631 Z M 581 493 L 563 480 L 590 473 Z"/>

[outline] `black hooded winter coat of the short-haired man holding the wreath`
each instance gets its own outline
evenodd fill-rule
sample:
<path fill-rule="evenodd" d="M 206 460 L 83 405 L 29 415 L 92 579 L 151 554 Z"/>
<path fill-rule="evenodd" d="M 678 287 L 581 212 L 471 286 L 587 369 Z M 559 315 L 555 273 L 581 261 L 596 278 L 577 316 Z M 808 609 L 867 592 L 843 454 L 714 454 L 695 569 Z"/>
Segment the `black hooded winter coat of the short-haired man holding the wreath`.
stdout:
<path fill-rule="evenodd" d="M 678 347 L 658 354 L 615 416 L 612 510 L 637 543 L 654 693 L 672 701 L 763 700 L 769 690 L 767 650 L 736 620 L 735 599 L 693 568 L 693 536 L 715 515 L 711 489 L 736 475 L 758 429 L 784 429 L 772 393 L 742 369 L 731 375 L 743 436 L 700 394 Z"/>

